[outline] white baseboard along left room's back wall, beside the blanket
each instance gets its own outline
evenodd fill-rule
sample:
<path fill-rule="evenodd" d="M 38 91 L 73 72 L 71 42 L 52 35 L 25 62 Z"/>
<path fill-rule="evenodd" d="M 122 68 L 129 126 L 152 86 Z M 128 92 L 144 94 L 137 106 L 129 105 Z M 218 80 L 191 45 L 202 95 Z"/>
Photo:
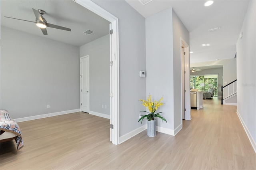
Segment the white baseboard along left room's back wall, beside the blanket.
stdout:
<path fill-rule="evenodd" d="M 14 121 L 15 122 L 32 121 L 32 120 L 35 120 L 35 119 L 42 119 L 42 118 L 46 118 L 46 117 L 65 115 L 65 114 L 75 113 L 75 112 L 80 112 L 80 109 L 74 109 L 74 110 L 62 111 L 62 112 L 55 112 L 55 113 L 48 113 L 48 114 L 44 114 L 44 115 L 36 115 L 36 116 L 30 116 L 30 117 L 23 117 L 23 118 L 14 119 Z"/>

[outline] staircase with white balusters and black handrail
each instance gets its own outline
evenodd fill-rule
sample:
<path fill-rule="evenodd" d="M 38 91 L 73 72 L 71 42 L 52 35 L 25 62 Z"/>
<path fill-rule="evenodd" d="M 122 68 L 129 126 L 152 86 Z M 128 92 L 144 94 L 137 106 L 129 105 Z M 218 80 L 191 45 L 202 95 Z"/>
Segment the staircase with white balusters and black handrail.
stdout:
<path fill-rule="evenodd" d="M 221 86 L 221 104 L 222 105 L 237 105 L 237 86 L 236 80 L 231 83 Z"/>

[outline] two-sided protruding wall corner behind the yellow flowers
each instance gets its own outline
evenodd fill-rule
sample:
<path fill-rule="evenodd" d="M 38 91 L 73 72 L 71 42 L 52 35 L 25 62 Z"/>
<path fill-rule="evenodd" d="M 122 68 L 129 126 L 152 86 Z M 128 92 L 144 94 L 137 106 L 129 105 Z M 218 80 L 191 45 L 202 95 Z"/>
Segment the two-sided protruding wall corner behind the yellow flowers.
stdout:
<path fill-rule="evenodd" d="M 172 8 L 146 18 L 146 89 L 155 100 L 164 96 L 158 111 L 168 123 L 159 119 L 157 126 L 169 134 L 182 127 L 181 37 L 189 44 L 189 32 Z"/>

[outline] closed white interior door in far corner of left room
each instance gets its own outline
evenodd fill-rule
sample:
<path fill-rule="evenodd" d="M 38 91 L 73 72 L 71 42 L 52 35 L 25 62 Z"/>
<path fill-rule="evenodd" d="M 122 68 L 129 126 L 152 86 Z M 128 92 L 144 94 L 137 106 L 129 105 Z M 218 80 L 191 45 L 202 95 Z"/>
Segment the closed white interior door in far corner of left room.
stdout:
<path fill-rule="evenodd" d="M 80 58 L 81 111 L 89 113 L 89 55 Z"/>

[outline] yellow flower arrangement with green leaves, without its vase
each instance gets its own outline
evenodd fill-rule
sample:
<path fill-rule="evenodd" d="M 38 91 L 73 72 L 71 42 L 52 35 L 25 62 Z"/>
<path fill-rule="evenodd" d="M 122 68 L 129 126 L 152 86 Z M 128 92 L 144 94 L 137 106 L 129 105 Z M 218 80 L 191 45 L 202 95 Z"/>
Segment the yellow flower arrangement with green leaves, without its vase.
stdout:
<path fill-rule="evenodd" d="M 142 115 L 142 117 L 139 119 L 139 122 L 143 121 L 143 119 L 146 117 L 148 121 L 154 120 L 154 117 L 159 117 L 160 119 L 162 119 L 162 121 L 166 121 L 166 119 L 164 119 L 162 116 L 160 116 L 159 113 L 155 113 L 156 109 L 158 109 L 160 106 L 163 105 L 163 103 L 161 102 L 163 100 L 163 97 L 161 97 L 161 99 L 159 101 L 152 101 L 151 100 L 151 95 L 148 95 L 146 100 L 140 99 L 140 101 L 142 101 L 142 105 L 144 107 L 146 107 L 146 109 L 148 109 L 149 112 L 147 111 L 141 111 L 141 112 L 146 112 L 149 113 L 148 115 Z M 166 121 L 167 123 L 167 121 Z"/>

